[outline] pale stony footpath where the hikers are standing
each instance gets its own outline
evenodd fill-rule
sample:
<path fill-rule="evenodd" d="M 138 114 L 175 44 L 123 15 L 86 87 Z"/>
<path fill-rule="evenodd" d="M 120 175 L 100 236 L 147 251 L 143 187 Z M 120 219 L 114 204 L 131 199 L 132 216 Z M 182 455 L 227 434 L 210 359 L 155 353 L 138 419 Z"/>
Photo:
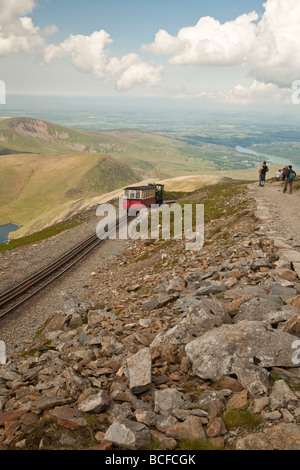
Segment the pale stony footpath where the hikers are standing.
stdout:
<path fill-rule="evenodd" d="M 282 182 L 266 183 L 263 188 L 257 183 L 249 185 L 249 193 L 257 201 L 257 215 L 262 219 L 264 230 L 300 251 L 300 191 L 283 194 L 282 190 Z"/>

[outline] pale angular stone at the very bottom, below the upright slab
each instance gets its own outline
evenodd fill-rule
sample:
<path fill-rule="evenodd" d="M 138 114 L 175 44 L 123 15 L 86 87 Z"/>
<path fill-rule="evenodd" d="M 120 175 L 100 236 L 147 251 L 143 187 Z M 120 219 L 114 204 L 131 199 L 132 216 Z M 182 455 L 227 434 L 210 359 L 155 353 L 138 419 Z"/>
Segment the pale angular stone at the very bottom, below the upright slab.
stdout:
<path fill-rule="evenodd" d="M 114 421 L 106 431 L 104 439 L 119 447 L 138 450 L 149 447 L 151 434 L 144 424 L 123 418 Z"/>

